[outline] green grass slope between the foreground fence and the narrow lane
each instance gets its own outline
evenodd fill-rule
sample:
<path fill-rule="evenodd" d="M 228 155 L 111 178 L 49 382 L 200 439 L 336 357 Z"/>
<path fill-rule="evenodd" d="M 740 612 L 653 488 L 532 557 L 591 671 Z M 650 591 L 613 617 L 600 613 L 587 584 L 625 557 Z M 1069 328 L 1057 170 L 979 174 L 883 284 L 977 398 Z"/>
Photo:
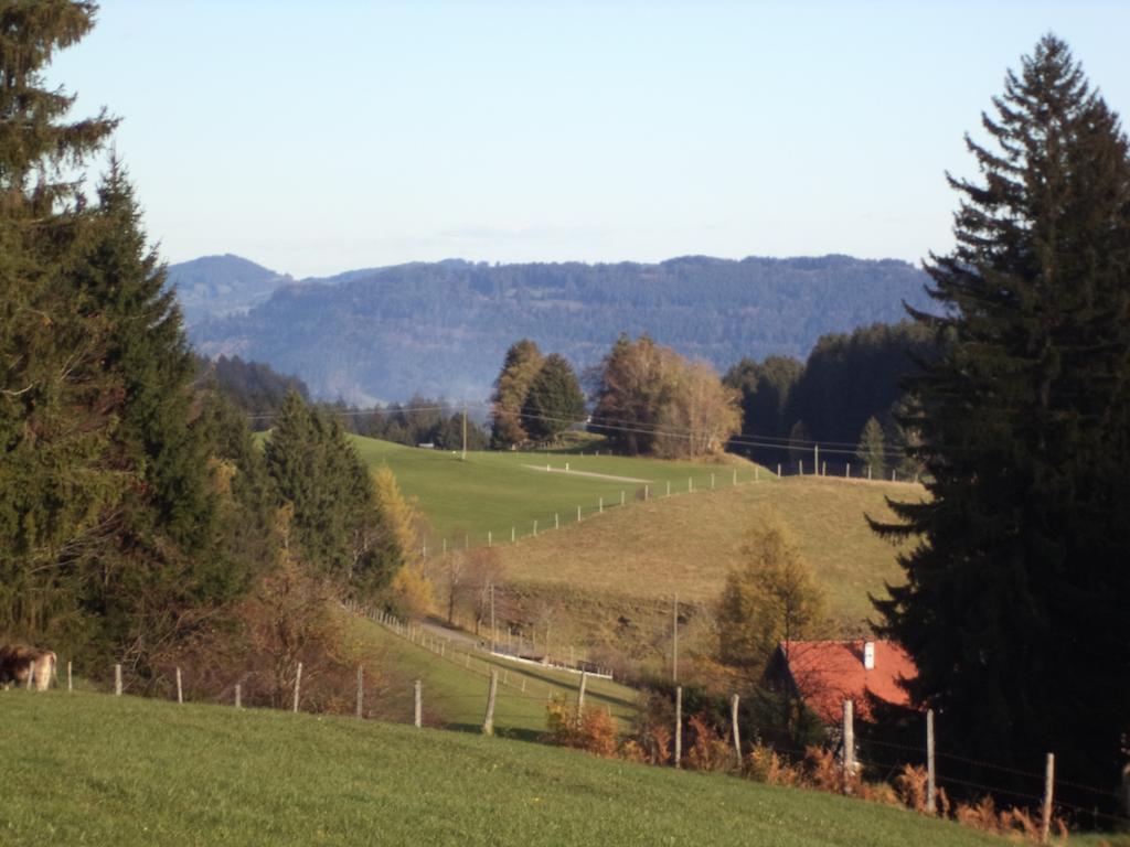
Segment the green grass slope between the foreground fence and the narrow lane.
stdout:
<path fill-rule="evenodd" d="M 576 674 L 511 662 L 462 645 L 446 647 L 444 657 L 393 635 L 384 627 L 354 618 L 349 636 L 362 652 L 376 654 L 390 672 L 403 680 L 420 680 L 426 722 L 457 730 L 478 730 L 486 713 L 490 670 L 497 670 L 501 684 L 495 707 L 495 727 L 502 735 L 528 741 L 546 732 L 546 704 L 549 698 L 575 702 L 580 676 Z M 386 695 L 388 710 L 395 719 L 410 722 L 414 695 L 408 686 Z M 585 702 L 607 708 L 627 732 L 636 715 L 636 692 L 625 686 L 590 678 Z"/>

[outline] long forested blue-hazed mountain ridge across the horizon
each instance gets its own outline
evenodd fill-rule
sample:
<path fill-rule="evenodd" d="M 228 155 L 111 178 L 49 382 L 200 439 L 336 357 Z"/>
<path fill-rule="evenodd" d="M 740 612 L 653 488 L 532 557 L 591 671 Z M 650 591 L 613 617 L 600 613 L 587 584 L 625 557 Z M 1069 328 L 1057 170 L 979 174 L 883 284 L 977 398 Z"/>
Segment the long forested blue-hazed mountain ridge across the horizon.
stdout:
<path fill-rule="evenodd" d="M 659 264 L 451 260 L 292 285 L 257 279 L 257 291 L 273 286 L 273 294 L 195 322 L 197 349 L 269 363 L 301 376 L 316 396 L 353 402 L 414 393 L 485 398 L 506 348 L 521 338 L 585 368 L 620 332 L 646 332 L 721 372 L 742 356 L 803 358 L 825 333 L 897 321 L 904 300 L 930 304 L 927 278 L 912 265 L 841 255 Z M 246 302 L 241 286 L 251 288 L 242 278 L 232 282 L 225 304 Z"/>

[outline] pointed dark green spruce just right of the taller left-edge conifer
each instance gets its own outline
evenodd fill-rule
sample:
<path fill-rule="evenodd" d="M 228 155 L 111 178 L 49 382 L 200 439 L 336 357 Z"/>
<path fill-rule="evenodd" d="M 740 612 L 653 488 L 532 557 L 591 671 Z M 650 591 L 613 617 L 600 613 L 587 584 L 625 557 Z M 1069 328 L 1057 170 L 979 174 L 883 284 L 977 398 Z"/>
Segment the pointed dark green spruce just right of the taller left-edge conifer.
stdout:
<path fill-rule="evenodd" d="M 102 370 L 121 386 L 105 456 L 131 484 L 104 514 L 106 543 L 76 564 L 99 640 L 144 671 L 153 645 L 188 635 L 188 610 L 231 600 L 232 586 L 219 567 L 209 445 L 190 426 L 195 365 L 116 159 L 87 216 L 80 259 L 68 282 L 78 308 L 104 325 Z"/>

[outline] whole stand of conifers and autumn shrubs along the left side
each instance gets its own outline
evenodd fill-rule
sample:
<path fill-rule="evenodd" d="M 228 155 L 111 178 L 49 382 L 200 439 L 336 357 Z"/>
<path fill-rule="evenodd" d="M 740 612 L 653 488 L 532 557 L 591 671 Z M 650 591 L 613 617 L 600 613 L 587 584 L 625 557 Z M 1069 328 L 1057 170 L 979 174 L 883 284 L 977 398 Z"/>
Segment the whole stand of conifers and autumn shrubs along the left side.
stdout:
<path fill-rule="evenodd" d="M 118 120 L 68 121 L 43 79 L 94 11 L 17 5 L 0 32 L 0 635 L 141 684 L 192 657 L 200 679 L 293 667 L 315 643 L 332 665 L 331 599 L 421 593 L 417 517 L 301 383 L 261 449 L 246 412 L 279 381 L 240 360 L 199 378 L 124 166 L 93 197 L 76 177 Z"/>

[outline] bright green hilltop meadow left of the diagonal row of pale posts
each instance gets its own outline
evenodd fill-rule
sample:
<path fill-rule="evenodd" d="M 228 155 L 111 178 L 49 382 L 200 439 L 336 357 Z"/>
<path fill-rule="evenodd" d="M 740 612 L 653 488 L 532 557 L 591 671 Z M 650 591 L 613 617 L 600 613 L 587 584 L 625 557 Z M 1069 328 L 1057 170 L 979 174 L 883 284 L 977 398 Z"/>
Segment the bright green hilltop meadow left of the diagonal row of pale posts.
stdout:
<path fill-rule="evenodd" d="M 486 543 L 487 533 L 495 542 L 508 542 L 511 530 L 518 536 L 530 535 L 533 522 L 539 530 L 560 525 L 582 516 L 592 516 L 603 500 L 605 513 L 618 507 L 623 492 L 631 504 L 643 489 L 650 497 L 684 492 L 688 486 L 709 489 L 711 474 L 719 488 L 731 486 L 734 473 L 740 483 L 754 479 L 754 465 L 740 459 L 721 463 L 664 462 L 573 453 L 471 452 L 467 461 L 451 453 L 399 444 L 354 438 L 360 457 L 372 466 L 388 464 L 401 490 L 417 498 L 432 525 L 433 549 L 443 543 Z M 570 472 L 566 473 L 565 465 Z M 554 471 L 546 471 L 549 465 Z M 768 472 L 758 471 L 762 478 Z M 594 475 L 585 475 L 594 474 Z M 618 478 L 618 479 L 609 479 Z"/>

